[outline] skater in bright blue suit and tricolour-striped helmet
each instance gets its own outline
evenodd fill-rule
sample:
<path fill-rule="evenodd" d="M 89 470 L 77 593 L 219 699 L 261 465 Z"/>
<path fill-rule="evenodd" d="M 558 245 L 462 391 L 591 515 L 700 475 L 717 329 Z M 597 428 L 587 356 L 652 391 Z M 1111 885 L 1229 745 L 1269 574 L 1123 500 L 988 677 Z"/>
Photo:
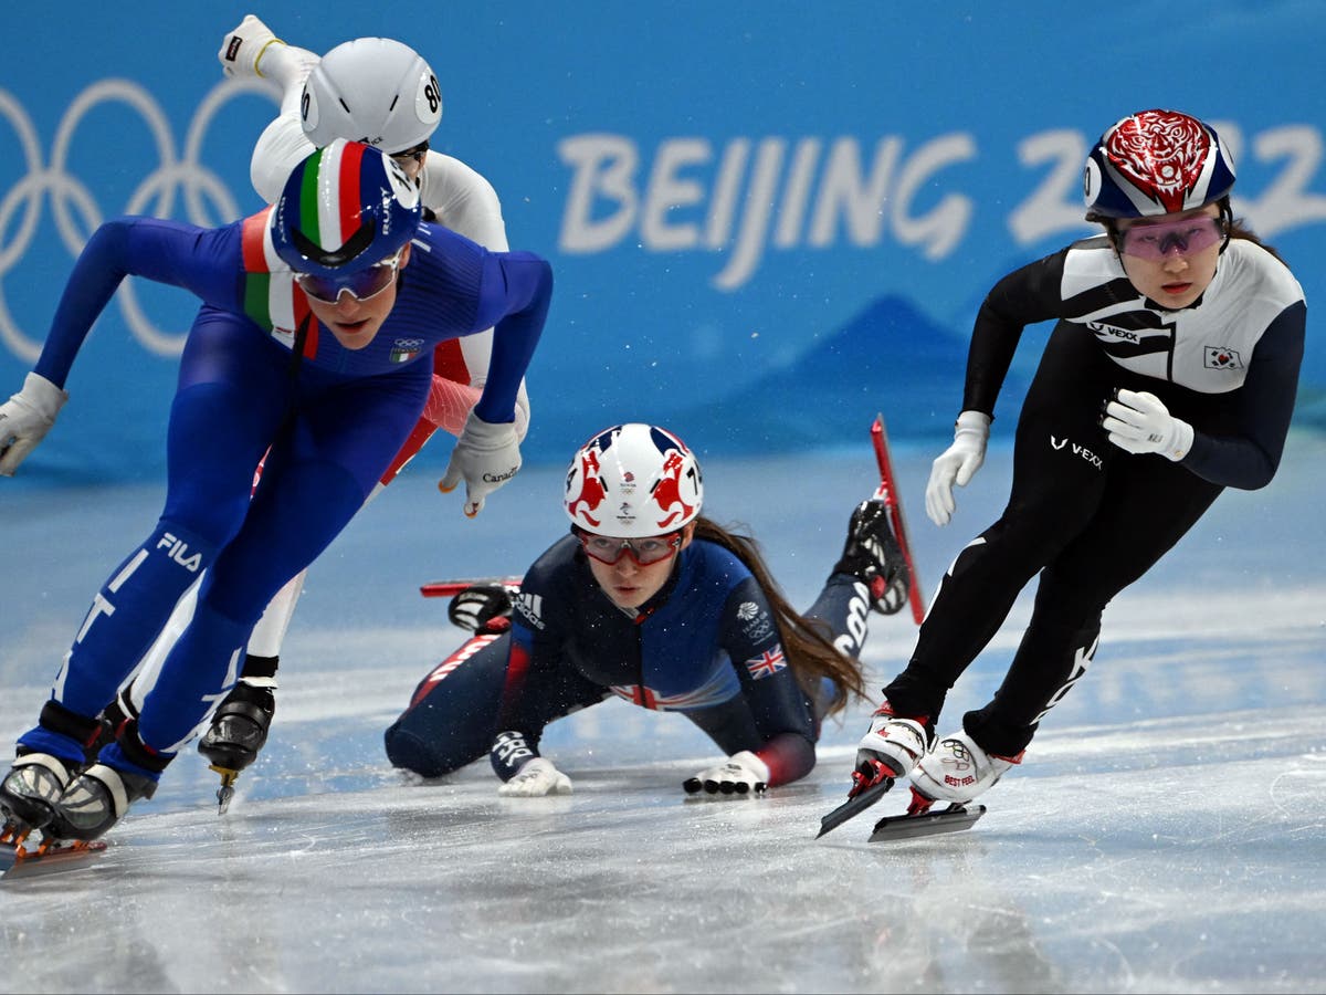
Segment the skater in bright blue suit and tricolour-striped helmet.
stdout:
<path fill-rule="evenodd" d="M 0 474 L 53 425 L 80 346 L 129 275 L 182 287 L 203 306 L 171 405 L 160 519 L 97 592 L 0 783 L 7 820 L 53 838 L 95 838 L 154 793 L 235 683 L 267 602 L 345 528 L 419 421 L 438 342 L 495 328 L 444 490 L 464 482 L 473 516 L 514 476 L 516 395 L 552 296 L 545 260 L 423 223 L 399 165 L 337 139 L 252 218 L 212 230 L 101 226 L 36 367 L 0 406 Z M 105 742 L 98 714 L 199 578 L 194 620 L 141 714 Z"/>

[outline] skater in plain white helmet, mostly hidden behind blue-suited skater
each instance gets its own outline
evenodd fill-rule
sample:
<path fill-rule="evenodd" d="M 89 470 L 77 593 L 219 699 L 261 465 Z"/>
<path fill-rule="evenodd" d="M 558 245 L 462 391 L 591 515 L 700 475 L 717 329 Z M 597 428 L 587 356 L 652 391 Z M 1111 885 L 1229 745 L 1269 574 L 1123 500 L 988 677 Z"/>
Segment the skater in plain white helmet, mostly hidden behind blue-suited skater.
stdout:
<path fill-rule="evenodd" d="M 507 251 L 501 203 L 492 184 L 465 163 L 428 147 L 442 119 L 442 93 L 428 62 L 392 38 L 342 42 L 322 57 L 286 45 L 261 20 L 248 15 L 228 32 L 217 60 L 231 77 L 259 77 L 280 89 L 280 113 L 253 147 L 253 188 L 272 203 L 290 171 L 314 149 L 337 138 L 362 141 L 390 155 L 419 186 L 424 219 L 436 220 L 493 251 Z M 379 494 L 442 429 L 459 435 L 488 378 L 492 329 L 450 340 L 434 352 L 434 383 L 415 431 L 370 495 Z M 524 381 L 516 399 L 516 431 L 529 430 Z M 276 674 L 281 645 L 294 614 L 306 572 L 272 600 L 249 639 L 235 690 L 212 715 L 199 750 L 228 785 L 257 759 L 276 710 Z M 145 658 L 139 675 L 109 708 L 115 722 L 131 715 L 151 687 L 162 659 L 188 624 L 194 597 L 186 597 L 162 638 Z M 223 791 L 223 807 L 229 792 Z"/>

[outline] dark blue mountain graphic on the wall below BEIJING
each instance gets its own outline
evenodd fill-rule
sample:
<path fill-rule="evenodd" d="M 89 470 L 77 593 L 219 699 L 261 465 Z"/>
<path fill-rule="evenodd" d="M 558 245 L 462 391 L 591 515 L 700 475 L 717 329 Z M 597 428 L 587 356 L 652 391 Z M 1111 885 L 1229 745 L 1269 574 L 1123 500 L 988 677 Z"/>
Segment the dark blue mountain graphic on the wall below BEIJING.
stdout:
<path fill-rule="evenodd" d="M 879 411 L 894 442 L 951 440 L 968 338 L 906 297 L 878 297 L 790 366 L 688 409 L 676 425 L 696 438 L 721 434 L 701 451 L 743 455 L 862 444 Z M 1026 383 L 1009 371 L 1001 411 L 1021 402 Z"/>

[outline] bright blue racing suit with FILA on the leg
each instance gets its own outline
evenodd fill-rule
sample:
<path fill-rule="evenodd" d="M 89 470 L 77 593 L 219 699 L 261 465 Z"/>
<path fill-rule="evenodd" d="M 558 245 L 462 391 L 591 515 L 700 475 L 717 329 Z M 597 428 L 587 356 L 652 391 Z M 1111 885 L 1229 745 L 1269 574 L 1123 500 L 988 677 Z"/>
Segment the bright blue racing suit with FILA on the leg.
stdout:
<path fill-rule="evenodd" d="M 103 224 L 74 265 L 36 366 L 64 386 L 127 275 L 203 301 L 171 405 L 164 509 L 97 593 L 52 693 L 76 716 L 95 716 L 203 577 L 194 621 L 139 716 L 142 743 L 162 762 L 135 764 L 111 743 L 101 758 L 113 767 L 158 775 L 235 683 L 267 602 L 341 532 L 419 419 L 434 346 L 496 326 L 475 413 L 511 422 L 548 313 L 546 261 L 424 224 L 375 338 L 345 349 L 276 256 L 267 214 L 212 230 L 149 218 Z M 82 760 L 69 735 L 41 724 L 19 743 Z"/>

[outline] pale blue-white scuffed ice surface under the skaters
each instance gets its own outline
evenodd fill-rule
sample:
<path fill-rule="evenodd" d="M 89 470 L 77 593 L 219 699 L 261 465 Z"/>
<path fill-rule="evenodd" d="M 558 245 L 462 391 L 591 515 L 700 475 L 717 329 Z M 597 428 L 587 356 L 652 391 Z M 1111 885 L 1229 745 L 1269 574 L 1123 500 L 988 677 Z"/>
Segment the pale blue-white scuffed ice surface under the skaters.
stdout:
<path fill-rule="evenodd" d="M 934 455 L 896 458 L 927 593 L 998 513 L 1009 468 L 992 451 L 937 529 Z M 500 799 L 487 763 L 431 783 L 391 769 L 382 731 L 461 639 L 418 586 L 518 572 L 565 528 L 560 467 L 526 470 L 473 521 L 411 467 L 313 568 L 272 740 L 231 811 L 190 748 L 102 857 L 0 884 L 0 991 L 1323 991 L 1323 459 L 1296 435 L 1269 488 L 1227 492 L 1106 612 L 1091 671 L 985 817 L 899 844 L 867 837 L 902 785 L 814 840 L 863 703 L 826 727 L 806 780 L 758 800 L 684 800 L 716 751 L 615 700 L 545 738 L 570 796 Z M 809 604 L 874 486 L 865 426 L 842 452 L 703 462 L 707 512 L 751 525 Z M 4 743 L 159 501 L 0 480 Z M 1028 610 L 1024 596 L 941 732 L 993 691 Z M 878 693 L 915 625 L 871 618 Z"/>

